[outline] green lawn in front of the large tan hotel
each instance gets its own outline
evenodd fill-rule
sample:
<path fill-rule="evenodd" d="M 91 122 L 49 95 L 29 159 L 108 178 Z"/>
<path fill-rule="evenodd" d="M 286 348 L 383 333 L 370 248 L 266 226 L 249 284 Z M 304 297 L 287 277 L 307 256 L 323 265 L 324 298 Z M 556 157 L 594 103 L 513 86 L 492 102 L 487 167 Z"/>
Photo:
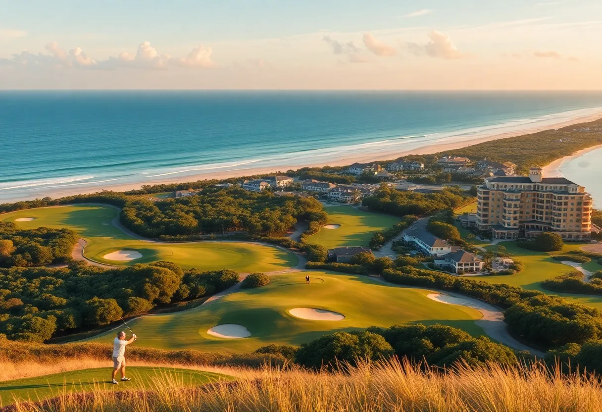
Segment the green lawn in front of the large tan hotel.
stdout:
<path fill-rule="evenodd" d="M 564 275 L 565 273 L 573 272 L 575 269 L 571 266 L 567 266 L 554 260 L 550 254 L 543 252 L 529 251 L 527 249 L 519 248 L 515 242 L 502 242 L 499 245 L 504 246 L 512 257 L 517 258 L 524 263 L 524 270 L 515 275 L 501 275 L 501 276 L 479 276 L 479 280 L 491 282 L 491 283 L 506 283 L 512 286 L 520 286 L 524 289 L 535 289 L 541 290 L 542 292 L 550 295 L 559 295 L 567 299 L 570 302 L 580 303 L 583 305 L 595 306 L 602 309 L 602 296 L 586 296 L 586 295 L 574 295 L 569 293 L 556 293 L 550 292 L 549 290 L 542 289 L 540 283 L 546 279 L 555 278 L 556 276 Z M 579 249 L 583 246 L 582 243 L 568 244 L 562 249 L 561 252 L 568 252 L 571 250 Z M 496 250 L 496 246 L 487 246 L 488 249 Z M 592 260 L 589 263 L 582 265 L 586 270 L 602 270 L 602 265 Z"/>

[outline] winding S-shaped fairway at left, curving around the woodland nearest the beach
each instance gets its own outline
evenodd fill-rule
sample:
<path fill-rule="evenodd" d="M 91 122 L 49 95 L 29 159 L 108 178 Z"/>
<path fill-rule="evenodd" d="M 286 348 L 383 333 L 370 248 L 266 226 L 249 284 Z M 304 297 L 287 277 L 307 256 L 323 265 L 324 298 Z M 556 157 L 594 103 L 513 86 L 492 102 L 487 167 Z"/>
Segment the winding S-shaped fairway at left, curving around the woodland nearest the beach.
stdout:
<path fill-rule="evenodd" d="M 273 272 L 294 267 L 298 263 L 297 257 L 284 249 L 253 243 L 165 243 L 134 239 L 112 225 L 118 214 L 119 211 L 113 207 L 83 204 L 22 210 L 3 214 L 0 219 L 14 222 L 24 229 L 40 226 L 72 229 L 88 242 L 84 249 L 85 257 L 105 264 L 131 265 L 167 260 L 178 263 L 183 269 L 233 269 L 244 273 Z M 34 220 L 16 221 L 24 217 Z M 104 258 L 115 251 L 137 251 L 142 257 L 129 261 Z"/>

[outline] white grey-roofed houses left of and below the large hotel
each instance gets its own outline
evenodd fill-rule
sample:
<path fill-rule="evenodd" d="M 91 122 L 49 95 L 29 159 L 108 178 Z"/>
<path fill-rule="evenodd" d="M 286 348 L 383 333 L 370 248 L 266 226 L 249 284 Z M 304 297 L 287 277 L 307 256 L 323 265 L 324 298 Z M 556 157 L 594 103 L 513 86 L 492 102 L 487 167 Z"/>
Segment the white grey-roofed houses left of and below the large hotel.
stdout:
<path fill-rule="evenodd" d="M 424 229 L 416 228 L 403 235 L 403 240 L 413 243 L 418 252 L 435 258 L 439 267 L 448 267 L 454 273 L 474 273 L 483 270 L 483 261 L 475 254 L 452 246 Z"/>

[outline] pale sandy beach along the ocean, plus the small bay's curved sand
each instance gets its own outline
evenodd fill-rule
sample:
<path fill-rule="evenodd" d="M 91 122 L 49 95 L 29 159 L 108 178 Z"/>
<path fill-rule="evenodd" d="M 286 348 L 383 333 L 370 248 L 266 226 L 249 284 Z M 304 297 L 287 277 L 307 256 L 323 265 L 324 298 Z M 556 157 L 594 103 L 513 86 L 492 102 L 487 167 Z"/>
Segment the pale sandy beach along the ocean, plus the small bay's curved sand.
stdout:
<path fill-rule="evenodd" d="M 466 146 L 477 145 L 483 142 L 489 142 L 491 140 L 498 139 L 506 139 L 508 137 L 521 136 L 524 134 L 532 134 L 537 133 L 543 130 L 551 130 L 563 128 L 566 126 L 574 125 L 577 123 L 585 123 L 592 122 L 597 119 L 602 118 L 602 111 L 595 111 L 589 113 L 588 115 L 580 114 L 580 116 L 574 116 L 570 119 L 564 119 L 562 122 L 553 122 L 552 120 L 547 120 L 546 122 L 532 123 L 526 124 L 522 126 L 518 126 L 515 128 L 511 128 L 511 130 L 504 133 L 493 134 L 491 131 L 479 133 L 471 133 L 467 135 L 459 135 L 454 139 L 446 139 L 445 137 L 442 139 L 430 139 L 427 142 L 424 142 L 424 145 L 420 147 L 413 147 L 402 149 L 401 147 L 397 147 L 395 145 L 390 146 L 389 148 L 381 148 L 380 146 L 370 146 L 366 145 L 365 149 L 362 149 L 360 153 L 348 153 L 345 149 L 334 148 L 332 151 L 326 151 L 326 154 L 317 154 L 314 158 L 315 161 L 307 161 L 307 160 L 298 160 L 294 157 L 289 157 L 286 160 L 282 161 L 275 166 L 262 166 L 262 167 L 253 167 L 252 163 L 248 165 L 239 166 L 233 169 L 227 170 L 216 170 L 216 169 L 205 169 L 202 173 L 166 173 L 166 175 L 152 175 L 148 176 L 146 181 L 138 181 L 138 182 L 128 182 L 128 183 L 94 183 L 89 184 L 87 186 L 81 184 L 70 184 L 64 187 L 55 186 L 53 189 L 49 188 L 40 188 L 33 195 L 28 196 L 28 198 L 15 198 L 8 199 L 8 201 L 17 201 L 17 200 L 26 200 L 26 199 L 35 199 L 35 198 L 43 198 L 44 196 L 51 196 L 52 198 L 59 198 L 62 196 L 69 195 L 78 195 L 84 193 L 95 193 L 100 192 L 101 190 L 113 190 L 116 192 L 123 192 L 126 190 L 140 189 L 142 185 L 154 185 L 154 184 L 169 184 L 169 183 L 184 183 L 184 182 L 193 182 L 197 180 L 203 179 L 225 179 L 225 178 L 237 178 L 241 176 L 251 176 L 251 175 L 260 175 L 267 173 L 285 173 L 287 170 L 295 170 L 300 169 L 301 167 L 322 167 L 322 166 L 345 166 L 347 164 L 352 164 L 355 162 L 359 163 L 368 163 L 370 161 L 384 161 L 384 160 L 394 160 L 398 157 L 404 155 L 423 155 L 423 154 L 432 154 L 436 152 L 445 152 L 447 150 L 460 149 Z M 566 161 L 568 158 L 573 158 L 579 156 L 580 154 L 586 153 L 588 151 L 593 150 L 594 148 L 588 148 L 584 151 L 579 151 L 576 154 L 571 155 L 570 157 L 565 157 L 554 161 L 553 163 L 546 166 L 546 174 L 554 175 L 558 174 L 557 170 L 560 164 L 563 161 Z M 296 163 L 297 162 L 297 163 Z M 193 169 L 194 170 L 194 169 Z M 202 169 L 201 169 L 202 170 Z M 164 176 L 164 178 L 162 178 Z"/>

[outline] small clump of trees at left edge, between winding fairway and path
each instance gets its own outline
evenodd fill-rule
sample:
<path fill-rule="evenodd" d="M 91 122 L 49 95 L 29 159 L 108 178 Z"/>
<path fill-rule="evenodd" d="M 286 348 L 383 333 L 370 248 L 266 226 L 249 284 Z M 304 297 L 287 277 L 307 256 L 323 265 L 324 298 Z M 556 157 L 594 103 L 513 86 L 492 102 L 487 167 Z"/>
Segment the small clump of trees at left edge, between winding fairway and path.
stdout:
<path fill-rule="evenodd" d="M 78 236 L 69 229 L 19 229 L 0 222 L 0 267 L 43 266 L 71 259 Z"/>

